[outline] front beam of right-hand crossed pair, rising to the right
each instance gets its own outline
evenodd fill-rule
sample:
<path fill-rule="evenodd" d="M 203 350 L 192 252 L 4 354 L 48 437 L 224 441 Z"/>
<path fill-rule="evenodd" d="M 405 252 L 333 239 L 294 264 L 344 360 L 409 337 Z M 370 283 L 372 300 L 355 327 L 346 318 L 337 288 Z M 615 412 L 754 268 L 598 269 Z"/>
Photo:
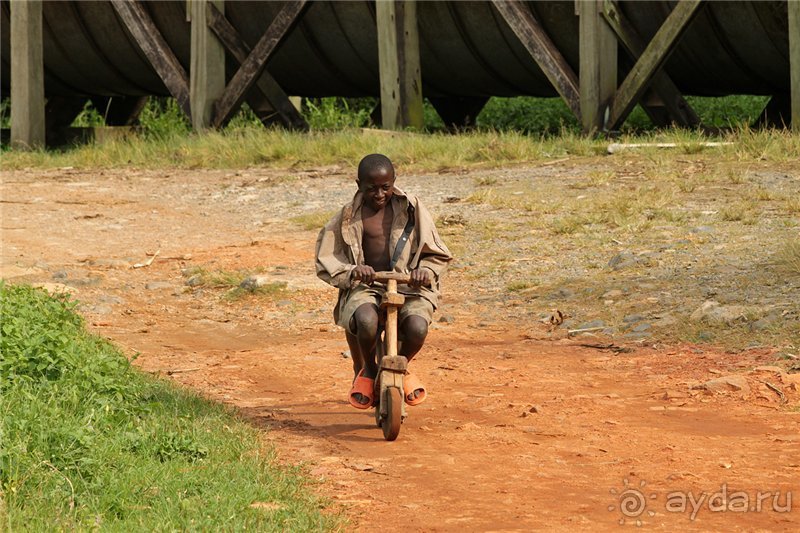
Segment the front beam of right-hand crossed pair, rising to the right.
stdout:
<path fill-rule="evenodd" d="M 689 27 L 702 2 L 703 0 L 681 0 L 672 9 L 617 90 L 607 121 L 609 129 L 618 128 L 636 106 L 655 73 L 669 58 L 675 44 Z"/>

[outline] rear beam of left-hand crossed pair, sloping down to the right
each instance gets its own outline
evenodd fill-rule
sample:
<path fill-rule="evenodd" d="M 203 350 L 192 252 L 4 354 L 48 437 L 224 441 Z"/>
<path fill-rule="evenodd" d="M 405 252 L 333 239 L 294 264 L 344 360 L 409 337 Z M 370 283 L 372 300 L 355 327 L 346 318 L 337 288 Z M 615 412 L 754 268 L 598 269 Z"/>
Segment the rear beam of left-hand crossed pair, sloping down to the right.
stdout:
<path fill-rule="evenodd" d="M 214 4 L 207 4 L 206 11 L 208 27 L 234 59 L 239 64 L 244 63 L 250 55 L 250 47 Z M 303 115 L 300 114 L 281 86 L 278 85 L 278 82 L 266 70 L 256 80 L 256 87 L 263 93 L 268 105 L 277 114 L 281 124 L 290 129 L 308 130 L 308 123 L 303 118 Z M 254 106 L 251 104 L 250 107 Z"/>

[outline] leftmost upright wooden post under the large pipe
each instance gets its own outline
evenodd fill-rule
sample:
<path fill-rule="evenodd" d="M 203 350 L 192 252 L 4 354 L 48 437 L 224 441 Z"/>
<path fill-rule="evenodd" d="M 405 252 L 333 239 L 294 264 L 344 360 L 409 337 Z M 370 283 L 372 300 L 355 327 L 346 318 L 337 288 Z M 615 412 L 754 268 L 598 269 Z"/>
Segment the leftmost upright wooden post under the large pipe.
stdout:
<path fill-rule="evenodd" d="M 11 146 L 44 146 L 42 2 L 11 2 Z"/>

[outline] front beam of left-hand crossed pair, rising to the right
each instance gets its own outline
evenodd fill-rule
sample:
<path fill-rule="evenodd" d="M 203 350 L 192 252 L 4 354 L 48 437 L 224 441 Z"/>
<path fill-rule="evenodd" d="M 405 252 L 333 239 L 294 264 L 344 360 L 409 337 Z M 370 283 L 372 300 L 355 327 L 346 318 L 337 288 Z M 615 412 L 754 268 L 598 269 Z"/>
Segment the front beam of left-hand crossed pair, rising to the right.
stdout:
<path fill-rule="evenodd" d="M 264 71 L 267 61 L 278 48 L 278 45 L 289 34 L 289 30 L 297 23 L 307 4 L 306 0 L 291 0 L 284 4 L 283 8 L 278 12 L 267 31 L 253 47 L 247 59 L 242 62 L 230 83 L 228 83 L 222 97 L 217 100 L 214 106 L 214 119 L 212 120 L 212 125 L 215 128 L 221 128 L 227 124 L 234 113 L 238 111 L 247 91 L 250 90 Z"/>

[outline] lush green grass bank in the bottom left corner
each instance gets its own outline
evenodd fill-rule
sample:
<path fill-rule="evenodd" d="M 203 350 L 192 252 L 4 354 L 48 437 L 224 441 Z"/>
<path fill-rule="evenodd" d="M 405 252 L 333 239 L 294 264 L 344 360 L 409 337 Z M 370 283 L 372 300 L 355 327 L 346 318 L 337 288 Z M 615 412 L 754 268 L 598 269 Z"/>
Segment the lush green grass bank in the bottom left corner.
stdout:
<path fill-rule="evenodd" d="M 67 297 L 4 282 L 0 296 L 5 530 L 339 527 L 255 429 L 135 370 Z"/>

